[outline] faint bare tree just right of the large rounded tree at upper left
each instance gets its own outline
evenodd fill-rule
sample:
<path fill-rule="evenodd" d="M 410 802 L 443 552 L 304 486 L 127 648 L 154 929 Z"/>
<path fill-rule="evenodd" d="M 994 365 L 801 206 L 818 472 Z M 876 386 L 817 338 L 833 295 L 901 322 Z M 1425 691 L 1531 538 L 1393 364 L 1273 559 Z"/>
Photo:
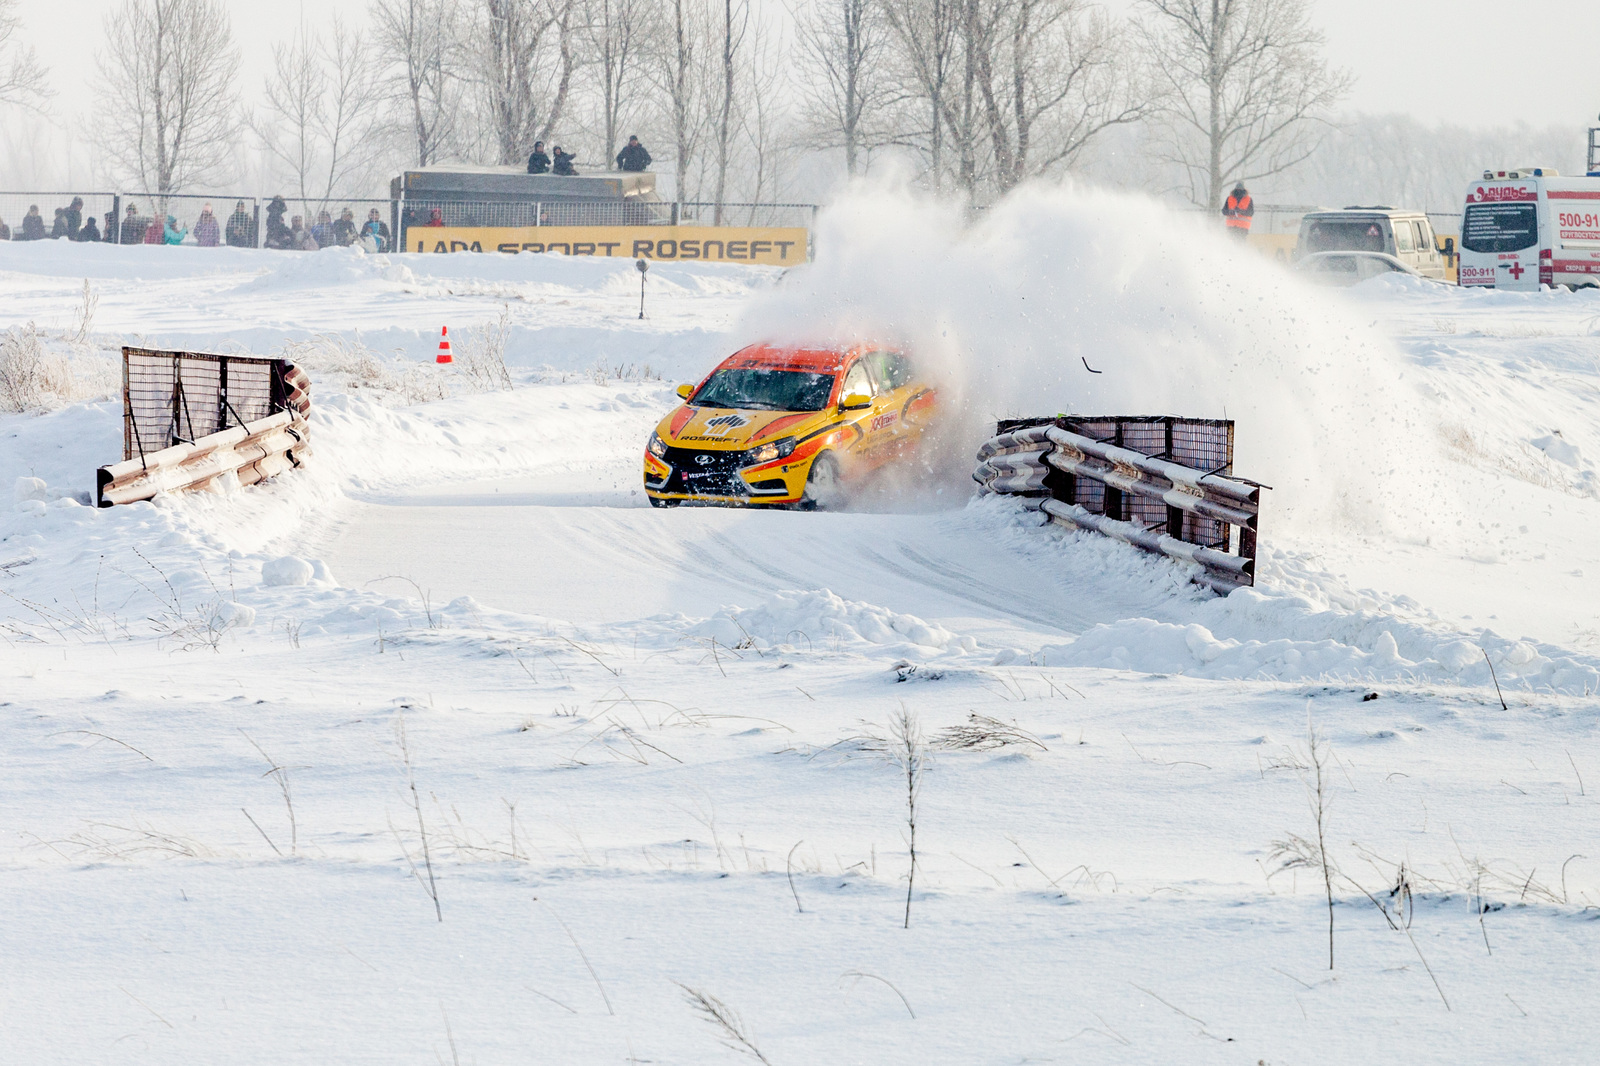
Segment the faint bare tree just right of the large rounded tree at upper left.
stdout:
<path fill-rule="evenodd" d="M 302 200 L 326 202 L 363 176 L 378 130 L 374 90 L 365 42 L 338 18 L 317 38 L 301 26 L 294 40 L 272 48 L 266 106 L 250 126 Z"/>

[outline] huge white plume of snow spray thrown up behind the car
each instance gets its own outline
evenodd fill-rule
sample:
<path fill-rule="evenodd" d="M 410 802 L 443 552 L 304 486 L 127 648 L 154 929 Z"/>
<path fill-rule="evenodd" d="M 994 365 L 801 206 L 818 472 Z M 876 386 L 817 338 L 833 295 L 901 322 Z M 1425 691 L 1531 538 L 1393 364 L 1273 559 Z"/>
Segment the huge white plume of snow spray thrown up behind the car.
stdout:
<path fill-rule="evenodd" d="M 1238 423 L 1235 469 L 1277 490 L 1278 528 L 1376 531 L 1403 512 L 1414 535 L 1440 491 L 1418 488 L 1440 483 L 1424 474 L 1438 432 L 1387 341 L 1195 213 L 1034 184 L 968 222 L 858 186 L 814 246 L 741 331 L 909 344 L 955 413 L 952 461 L 970 466 L 995 418 L 1181 415 Z"/>

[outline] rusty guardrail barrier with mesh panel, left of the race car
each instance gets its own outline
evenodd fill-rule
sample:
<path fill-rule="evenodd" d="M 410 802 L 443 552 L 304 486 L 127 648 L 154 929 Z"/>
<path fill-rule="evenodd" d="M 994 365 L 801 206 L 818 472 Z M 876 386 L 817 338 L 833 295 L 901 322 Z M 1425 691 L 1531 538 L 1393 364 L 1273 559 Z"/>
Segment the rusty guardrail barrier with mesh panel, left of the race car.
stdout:
<path fill-rule="evenodd" d="M 101 507 L 253 485 L 309 451 L 310 379 L 282 359 L 123 349 L 123 459 L 96 475 Z"/>

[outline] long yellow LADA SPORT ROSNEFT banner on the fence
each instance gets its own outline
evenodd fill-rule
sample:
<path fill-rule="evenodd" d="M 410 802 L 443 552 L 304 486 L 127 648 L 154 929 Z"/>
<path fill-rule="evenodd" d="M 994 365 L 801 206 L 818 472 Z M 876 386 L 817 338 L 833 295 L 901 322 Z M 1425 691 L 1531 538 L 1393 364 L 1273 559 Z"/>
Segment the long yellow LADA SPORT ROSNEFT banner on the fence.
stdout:
<path fill-rule="evenodd" d="M 806 261 L 806 230 L 734 226 L 408 226 L 406 251 L 560 251 L 683 262 Z"/>

